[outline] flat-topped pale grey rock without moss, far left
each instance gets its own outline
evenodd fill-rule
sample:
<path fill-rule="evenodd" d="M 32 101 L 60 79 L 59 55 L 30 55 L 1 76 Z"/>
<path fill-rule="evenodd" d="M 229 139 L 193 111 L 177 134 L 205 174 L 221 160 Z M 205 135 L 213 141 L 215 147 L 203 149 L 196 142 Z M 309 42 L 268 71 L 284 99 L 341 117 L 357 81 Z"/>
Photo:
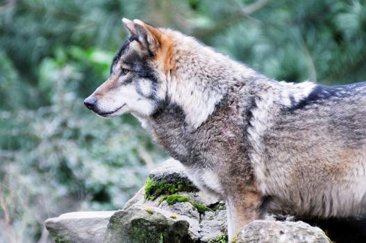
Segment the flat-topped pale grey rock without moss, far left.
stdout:
<path fill-rule="evenodd" d="M 99 243 L 103 240 L 108 221 L 114 212 L 69 212 L 47 219 L 45 224 L 56 243 Z"/>

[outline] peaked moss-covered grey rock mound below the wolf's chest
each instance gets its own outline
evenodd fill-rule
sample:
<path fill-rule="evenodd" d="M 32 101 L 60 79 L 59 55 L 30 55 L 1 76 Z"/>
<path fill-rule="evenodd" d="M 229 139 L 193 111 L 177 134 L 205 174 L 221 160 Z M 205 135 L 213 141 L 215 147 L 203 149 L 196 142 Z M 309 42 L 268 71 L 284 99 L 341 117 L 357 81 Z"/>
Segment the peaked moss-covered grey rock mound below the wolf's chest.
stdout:
<path fill-rule="evenodd" d="M 111 217 L 105 242 L 121 239 L 134 243 L 159 242 L 163 238 L 164 242 L 208 243 L 220 235 L 225 237 L 226 211 L 222 210 L 222 202 L 200 192 L 186 176 L 180 162 L 167 160 L 153 169 L 147 185 L 147 190 L 140 190 L 123 210 Z M 171 194 L 174 199 L 184 200 L 169 205 L 165 200 Z M 173 235 L 176 235 L 174 239 Z"/>

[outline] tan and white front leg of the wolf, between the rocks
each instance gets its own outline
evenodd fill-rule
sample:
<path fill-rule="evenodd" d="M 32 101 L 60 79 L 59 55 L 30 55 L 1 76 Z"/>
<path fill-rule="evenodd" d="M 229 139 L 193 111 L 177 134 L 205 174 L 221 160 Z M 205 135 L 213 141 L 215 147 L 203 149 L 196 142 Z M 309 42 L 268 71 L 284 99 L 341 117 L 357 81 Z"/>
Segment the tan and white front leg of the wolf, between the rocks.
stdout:
<path fill-rule="evenodd" d="M 259 206 L 260 194 L 258 192 L 238 192 L 226 199 L 228 242 L 232 242 L 233 237 L 250 221 L 262 217 Z"/>

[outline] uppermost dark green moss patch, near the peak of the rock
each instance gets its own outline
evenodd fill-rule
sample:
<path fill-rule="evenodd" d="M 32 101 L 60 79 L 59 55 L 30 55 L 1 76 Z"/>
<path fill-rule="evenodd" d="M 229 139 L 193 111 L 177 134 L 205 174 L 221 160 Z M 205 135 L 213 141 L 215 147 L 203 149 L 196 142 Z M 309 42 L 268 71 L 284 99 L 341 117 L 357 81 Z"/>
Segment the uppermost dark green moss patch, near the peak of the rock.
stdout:
<path fill-rule="evenodd" d="M 186 181 L 170 183 L 165 180 L 156 181 L 152 176 L 145 183 L 145 199 L 155 200 L 161 194 L 176 192 L 197 192 L 197 187 Z"/>

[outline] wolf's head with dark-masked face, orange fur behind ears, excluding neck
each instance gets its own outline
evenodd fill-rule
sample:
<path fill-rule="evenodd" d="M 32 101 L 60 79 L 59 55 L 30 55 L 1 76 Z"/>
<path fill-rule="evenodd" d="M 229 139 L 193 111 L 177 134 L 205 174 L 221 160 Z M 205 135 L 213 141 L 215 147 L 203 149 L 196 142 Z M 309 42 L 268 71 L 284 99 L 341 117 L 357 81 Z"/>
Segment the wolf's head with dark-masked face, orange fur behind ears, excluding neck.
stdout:
<path fill-rule="evenodd" d="M 126 112 L 146 117 L 165 100 L 173 45 L 157 28 L 138 19 L 122 22 L 128 40 L 115 56 L 109 78 L 84 103 L 102 117 Z"/>

